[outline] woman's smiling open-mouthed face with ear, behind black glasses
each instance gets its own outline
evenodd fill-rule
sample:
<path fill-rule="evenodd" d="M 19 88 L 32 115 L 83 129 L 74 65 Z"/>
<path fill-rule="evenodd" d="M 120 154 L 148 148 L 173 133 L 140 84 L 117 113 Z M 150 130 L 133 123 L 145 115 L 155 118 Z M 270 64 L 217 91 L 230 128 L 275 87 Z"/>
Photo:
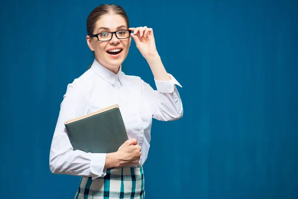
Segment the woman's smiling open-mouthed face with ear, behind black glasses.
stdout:
<path fill-rule="evenodd" d="M 128 30 L 128 28 L 126 21 L 121 15 L 106 14 L 101 16 L 96 22 L 95 29 L 92 34 Z M 112 39 L 109 41 L 98 41 L 96 37 L 90 38 L 89 36 L 86 37 L 86 40 L 89 48 L 94 51 L 95 59 L 107 69 L 117 73 L 119 66 L 127 57 L 131 37 L 127 39 L 118 39 L 116 35 L 113 34 Z M 111 52 L 111 50 L 114 52 Z"/>

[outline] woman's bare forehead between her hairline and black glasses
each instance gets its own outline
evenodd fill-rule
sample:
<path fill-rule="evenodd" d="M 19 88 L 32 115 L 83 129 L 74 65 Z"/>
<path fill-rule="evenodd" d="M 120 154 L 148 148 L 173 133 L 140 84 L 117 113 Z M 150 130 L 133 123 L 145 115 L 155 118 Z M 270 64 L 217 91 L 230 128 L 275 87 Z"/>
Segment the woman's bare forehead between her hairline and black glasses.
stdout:
<path fill-rule="evenodd" d="M 97 31 L 100 27 L 106 27 L 109 28 L 111 31 L 116 31 L 117 27 L 121 25 L 125 25 L 125 27 L 127 27 L 126 21 L 121 15 L 105 14 L 97 20 L 95 31 Z"/>

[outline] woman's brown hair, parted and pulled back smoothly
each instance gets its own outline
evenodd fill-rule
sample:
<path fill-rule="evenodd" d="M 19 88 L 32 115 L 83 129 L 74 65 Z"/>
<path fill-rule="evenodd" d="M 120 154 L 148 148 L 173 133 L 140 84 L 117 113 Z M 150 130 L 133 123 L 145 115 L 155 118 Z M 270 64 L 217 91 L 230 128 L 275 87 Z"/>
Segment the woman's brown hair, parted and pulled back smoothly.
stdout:
<path fill-rule="evenodd" d="M 129 19 L 124 11 L 124 9 L 120 5 L 115 5 L 115 4 L 102 4 L 97 7 L 95 7 L 91 13 L 89 14 L 87 18 L 87 35 L 94 34 L 94 29 L 96 22 L 98 19 L 100 19 L 101 16 L 105 14 L 119 14 L 121 15 L 127 25 L 127 28 L 129 28 Z M 94 52 L 93 52 L 94 55 Z M 89 69 L 91 68 L 91 65 L 89 66 Z"/>

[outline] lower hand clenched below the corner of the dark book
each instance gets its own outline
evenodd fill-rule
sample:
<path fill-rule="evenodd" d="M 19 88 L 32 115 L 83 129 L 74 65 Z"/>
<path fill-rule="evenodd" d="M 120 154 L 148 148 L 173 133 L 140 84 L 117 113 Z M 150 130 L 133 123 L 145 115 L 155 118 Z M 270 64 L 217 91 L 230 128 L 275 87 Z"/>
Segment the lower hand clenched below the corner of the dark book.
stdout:
<path fill-rule="evenodd" d="M 142 155 L 141 146 L 138 145 L 136 138 L 129 139 L 119 147 L 116 154 L 120 167 L 138 164 Z"/>

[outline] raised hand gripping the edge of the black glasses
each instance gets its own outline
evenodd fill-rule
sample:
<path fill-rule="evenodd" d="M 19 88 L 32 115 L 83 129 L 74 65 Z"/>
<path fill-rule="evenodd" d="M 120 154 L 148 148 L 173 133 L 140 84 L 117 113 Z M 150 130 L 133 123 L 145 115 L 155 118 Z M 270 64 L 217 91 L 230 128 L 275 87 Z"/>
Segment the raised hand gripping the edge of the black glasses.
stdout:
<path fill-rule="evenodd" d="M 137 48 L 140 50 L 145 59 L 158 55 L 152 28 L 144 26 L 129 28 L 129 30 L 133 31 L 131 36 L 135 40 Z"/>

